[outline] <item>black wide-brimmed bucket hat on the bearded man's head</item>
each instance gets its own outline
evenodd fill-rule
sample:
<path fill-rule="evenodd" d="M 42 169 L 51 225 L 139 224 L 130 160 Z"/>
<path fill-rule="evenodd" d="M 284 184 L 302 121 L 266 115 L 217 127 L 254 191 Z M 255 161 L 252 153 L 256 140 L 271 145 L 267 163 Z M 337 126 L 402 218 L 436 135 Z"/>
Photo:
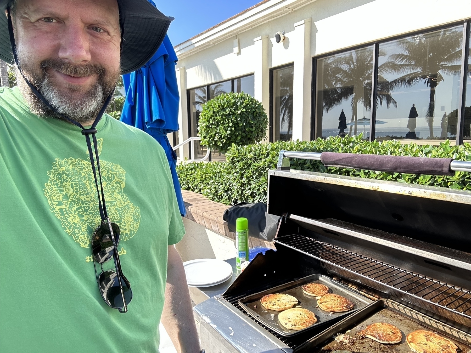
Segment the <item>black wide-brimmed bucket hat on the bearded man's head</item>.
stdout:
<path fill-rule="evenodd" d="M 11 0 L 0 0 L 0 59 L 14 63 L 8 20 L 4 15 Z M 136 71 L 155 54 L 173 17 L 162 14 L 147 0 L 117 0 L 122 28 L 121 68 Z"/>

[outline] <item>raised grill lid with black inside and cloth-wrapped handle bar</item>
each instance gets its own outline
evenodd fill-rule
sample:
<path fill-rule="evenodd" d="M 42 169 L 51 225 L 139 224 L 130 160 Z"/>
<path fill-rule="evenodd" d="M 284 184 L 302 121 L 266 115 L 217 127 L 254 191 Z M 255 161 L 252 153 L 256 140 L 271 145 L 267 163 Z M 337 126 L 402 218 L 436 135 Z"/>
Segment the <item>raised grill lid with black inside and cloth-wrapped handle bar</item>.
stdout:
<path fill-rule="evenodd" d="M 284 168 L 283 163 L 286 166 L 286 155 L 320 160 L 321 153 L 282 151 L 278 169 Z M 398 161 L 397 170 L 401 172 L 401 161 Z M 451 163 L 460 170 L 468 168 L 467 165 L 470 164 L 461 161 Z M 270 170 L 268 174 L 270 214 L 281 216 L 289 213 L 314 219 L 333 218 L 425 243 L 471 252 L 469 191 L 293 169 Z"/>

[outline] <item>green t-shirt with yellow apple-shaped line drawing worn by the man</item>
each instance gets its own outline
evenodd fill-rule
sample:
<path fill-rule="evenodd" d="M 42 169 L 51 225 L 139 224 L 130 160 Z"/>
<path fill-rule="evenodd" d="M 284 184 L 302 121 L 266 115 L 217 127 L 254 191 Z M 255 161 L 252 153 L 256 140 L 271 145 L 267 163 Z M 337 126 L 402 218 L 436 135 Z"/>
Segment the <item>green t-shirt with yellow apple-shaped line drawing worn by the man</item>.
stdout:
<path fill-rule="evenodd" d="M 105 115 L 97 130 L 106 206 L 133 291 L 123 314 L 103 301 L 93 269 L 100 216 L 85 136 L 32 114 L 18 88 L 0 88 L 2 353 L 158 352 L 167 249 L 185 233 L 169 164 L 137 128 Z"/>

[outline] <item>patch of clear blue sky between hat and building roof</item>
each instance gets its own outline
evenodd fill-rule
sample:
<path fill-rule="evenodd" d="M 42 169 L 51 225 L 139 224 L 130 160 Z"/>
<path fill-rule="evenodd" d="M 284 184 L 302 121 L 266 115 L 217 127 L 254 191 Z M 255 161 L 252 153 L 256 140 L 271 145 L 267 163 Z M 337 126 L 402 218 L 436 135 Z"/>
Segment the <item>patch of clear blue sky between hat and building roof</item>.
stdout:
<path fill-rule="evenodd" d="M 157 8 L 175 17 L 169 28 L 173 45 L 226 20 L 259 3 L 261 0 L 154 0 Z"/>

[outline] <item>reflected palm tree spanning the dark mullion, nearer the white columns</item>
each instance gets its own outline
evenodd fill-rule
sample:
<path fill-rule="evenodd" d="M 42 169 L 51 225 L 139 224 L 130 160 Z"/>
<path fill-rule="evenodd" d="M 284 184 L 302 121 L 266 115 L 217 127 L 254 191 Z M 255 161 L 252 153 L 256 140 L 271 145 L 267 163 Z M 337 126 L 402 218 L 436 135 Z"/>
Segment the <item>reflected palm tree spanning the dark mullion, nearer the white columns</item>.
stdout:
<path fill-rule="evenodd" d="M 385 53 L 380 51 L 379 55 L 385 56 Z M 319 61 L 322 72 L 319 72 L 320 80 L 318 76 L 321 88 L 318 91 L 318 99 L 322 101 L 322 111 L 329 112 L 344 101 L 350 100 L 352 124 L 349 135 L 352 135 L 352 132 L 353 135 L 357 135 L 358 108 L 362 106 L 365 110 L 370 110 L 371 107 L 373 48 L 356 49 L 338 56 L 328 56 Z M 386 61 L 378 67 L 376 104 L 386 103 L 389 108 L 391 104 L 396 107 L 397 103 L 391 96 L 392 85 L 382 76 L 388 64 L 389 61 Z M 318 121 L 322 121 L 322 111 L 318 111 Z"/>

